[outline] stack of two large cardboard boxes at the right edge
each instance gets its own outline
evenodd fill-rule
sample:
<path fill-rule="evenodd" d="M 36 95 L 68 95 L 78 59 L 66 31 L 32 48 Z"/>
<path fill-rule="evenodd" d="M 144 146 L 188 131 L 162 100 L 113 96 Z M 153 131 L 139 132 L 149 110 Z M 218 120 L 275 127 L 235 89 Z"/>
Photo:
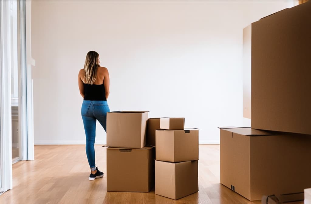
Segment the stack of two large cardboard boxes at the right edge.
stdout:
<path fill-rule="evenodd" d="M 220 183 L 249 200 L 311 187 L 310 11 L 307 2 L 250 27 L 252 128 L 220 129 Z"/>

